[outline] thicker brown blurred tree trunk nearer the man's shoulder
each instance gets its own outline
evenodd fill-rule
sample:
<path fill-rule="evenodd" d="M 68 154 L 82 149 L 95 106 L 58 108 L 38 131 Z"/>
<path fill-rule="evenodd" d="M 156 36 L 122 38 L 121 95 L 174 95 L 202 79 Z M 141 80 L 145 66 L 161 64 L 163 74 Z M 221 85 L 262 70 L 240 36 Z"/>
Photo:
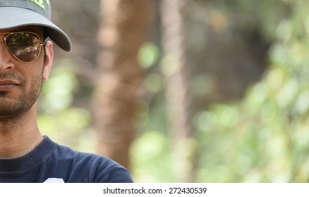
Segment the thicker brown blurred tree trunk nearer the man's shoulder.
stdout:
<path fill-rule="evenodd" d="M 135 134 L 135 107 L 143 72 L 137 53 L 149 14 L 145 0 L 102 0 L 97 63 L 101 72 L 95 94 L 97 153 L 130 167 L 129 148 Z"/>

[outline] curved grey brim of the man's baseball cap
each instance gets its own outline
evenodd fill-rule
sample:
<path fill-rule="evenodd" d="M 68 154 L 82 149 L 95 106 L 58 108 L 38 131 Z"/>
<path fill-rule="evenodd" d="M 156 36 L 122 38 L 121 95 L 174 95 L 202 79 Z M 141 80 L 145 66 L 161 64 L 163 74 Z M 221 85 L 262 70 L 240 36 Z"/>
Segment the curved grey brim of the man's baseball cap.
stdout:
<path fill-rule="evenodd" d="M 64 51 L 71 51 L 68 35 L 40 13 L 25 8 L 0 7 L 0 30 L 28 25 L 47 27 L 49 38 Z"/>

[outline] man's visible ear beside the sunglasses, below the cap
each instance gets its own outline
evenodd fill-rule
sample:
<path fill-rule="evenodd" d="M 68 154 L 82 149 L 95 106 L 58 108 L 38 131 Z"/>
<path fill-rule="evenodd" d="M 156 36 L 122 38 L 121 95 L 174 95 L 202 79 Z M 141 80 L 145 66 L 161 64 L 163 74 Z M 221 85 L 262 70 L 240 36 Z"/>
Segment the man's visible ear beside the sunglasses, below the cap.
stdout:
<path fill-rule="evenodd" d="M 44 44 L 44 68 L 43 68 L 43 81 L 47 81 L 49 78 L 49 73 L 52 70 L 54 51 L 53 51 L 53 43 L 48 41 Z"/>

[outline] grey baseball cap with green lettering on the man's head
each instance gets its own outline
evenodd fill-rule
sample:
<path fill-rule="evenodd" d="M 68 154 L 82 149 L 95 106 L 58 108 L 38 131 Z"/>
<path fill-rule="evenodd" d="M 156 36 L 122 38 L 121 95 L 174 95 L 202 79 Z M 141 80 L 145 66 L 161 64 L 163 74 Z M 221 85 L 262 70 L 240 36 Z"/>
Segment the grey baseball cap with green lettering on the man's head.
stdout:
<path fill-rule="evenodd" d="M 51 21 L 50 0 L 0 0 L 0 30 L 40 25 L 47 35 L 64 51 L 71 51 L 68 35 Z"/>

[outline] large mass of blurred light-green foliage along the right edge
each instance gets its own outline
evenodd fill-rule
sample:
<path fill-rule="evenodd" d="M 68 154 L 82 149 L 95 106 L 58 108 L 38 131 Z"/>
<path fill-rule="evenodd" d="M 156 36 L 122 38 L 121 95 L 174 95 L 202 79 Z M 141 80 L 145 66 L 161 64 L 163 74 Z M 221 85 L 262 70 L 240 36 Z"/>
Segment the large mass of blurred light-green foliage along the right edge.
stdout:
<path fill-rule="evenodd" d="M 309 2 L 290 6 L 291 15 L 277 25 L 262 81 L 240 103 L 197 117 L 203 150 L 212 150 L 202 155 L 199 182 L 308 182 Z"/>

